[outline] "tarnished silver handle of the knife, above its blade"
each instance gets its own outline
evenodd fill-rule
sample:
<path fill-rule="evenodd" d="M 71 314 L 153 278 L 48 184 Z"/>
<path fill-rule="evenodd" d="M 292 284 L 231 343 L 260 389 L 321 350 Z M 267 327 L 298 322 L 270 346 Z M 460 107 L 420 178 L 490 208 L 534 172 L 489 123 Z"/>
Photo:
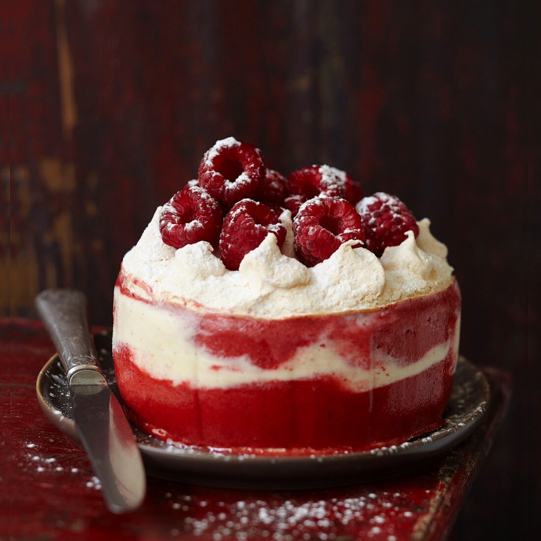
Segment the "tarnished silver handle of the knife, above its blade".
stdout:
<path fill-rule="evenodd" d="M 87 306 L 85 295 L 74 289 L 45 289 L 36 296 L 37 313 L 56 346 L 68 381 L 79 370 L 100 370 Z"/>

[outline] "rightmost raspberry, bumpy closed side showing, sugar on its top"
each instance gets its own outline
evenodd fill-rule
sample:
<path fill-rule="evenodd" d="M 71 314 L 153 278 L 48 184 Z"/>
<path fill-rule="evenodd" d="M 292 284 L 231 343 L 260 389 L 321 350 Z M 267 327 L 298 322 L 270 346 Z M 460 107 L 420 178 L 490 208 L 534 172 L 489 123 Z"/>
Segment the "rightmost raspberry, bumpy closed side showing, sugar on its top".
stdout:
<path fill-rule="evenodd" d="M 365 229 L 365 247 L 380 258 L 387 246 L 398 246 L 406 231 L 419 234 L 415 216 L 395 195 L 377 192 L 357 203 L 357 212 Z"/>

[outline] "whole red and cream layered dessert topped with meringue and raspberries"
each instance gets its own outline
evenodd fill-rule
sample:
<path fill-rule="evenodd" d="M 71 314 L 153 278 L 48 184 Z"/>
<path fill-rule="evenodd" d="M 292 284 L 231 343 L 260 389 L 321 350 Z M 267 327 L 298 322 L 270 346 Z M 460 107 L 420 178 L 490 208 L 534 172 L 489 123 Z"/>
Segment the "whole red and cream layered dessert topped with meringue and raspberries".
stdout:
<path fill-rule="evenodd" d="M 183 445 L 327 452 L 441 425 L 460 292 L 397 197 L 338 169 L 287 178 L 229 137 L 156 209 L 115 286 L 118 388 Z"/>

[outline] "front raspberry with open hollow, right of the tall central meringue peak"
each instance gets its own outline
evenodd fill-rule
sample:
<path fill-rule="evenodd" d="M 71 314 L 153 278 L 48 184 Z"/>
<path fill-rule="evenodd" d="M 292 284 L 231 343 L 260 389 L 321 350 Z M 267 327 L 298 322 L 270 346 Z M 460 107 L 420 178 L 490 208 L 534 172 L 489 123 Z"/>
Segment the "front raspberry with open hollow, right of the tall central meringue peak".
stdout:
<path fill-rule="evenodd" d="M 306 266 L 328 259 L 348 240 L 365 240 L 361 217 L 345 199 L 314 197 L 293 220 L 295 249 Z"/>

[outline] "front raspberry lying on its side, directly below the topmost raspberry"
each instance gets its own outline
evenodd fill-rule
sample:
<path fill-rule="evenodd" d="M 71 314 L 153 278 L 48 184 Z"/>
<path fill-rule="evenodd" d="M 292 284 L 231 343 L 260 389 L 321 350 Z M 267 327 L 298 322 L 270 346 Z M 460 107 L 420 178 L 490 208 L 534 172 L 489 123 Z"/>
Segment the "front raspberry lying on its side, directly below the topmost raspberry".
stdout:
<path fill-rule="evenodd" d="M 236 271 L 244 256 L 257 248 L 269 233 L 276 235 L 281 248 L 286 240 L 286 228 L 273 210 L 251 199 L 235 203 L 223 220 L 220 234 L 223 264 Z"/>

